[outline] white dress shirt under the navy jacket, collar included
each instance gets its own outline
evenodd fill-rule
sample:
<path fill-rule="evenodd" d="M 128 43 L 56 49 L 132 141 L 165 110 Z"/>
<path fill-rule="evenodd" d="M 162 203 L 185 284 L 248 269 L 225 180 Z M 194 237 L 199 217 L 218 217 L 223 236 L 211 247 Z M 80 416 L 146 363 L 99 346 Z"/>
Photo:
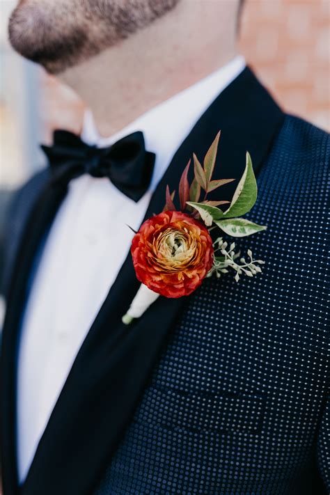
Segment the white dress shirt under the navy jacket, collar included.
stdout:
<path fill-rule="evenodd" d="M 17 462 L 23 482 L 81 344 L 123 264 L 152 191 L 173 155 L 217 95 L 244 69 L 242 56 L 104 139 L 86 113 L 81 138 L 109 146 L 136 130 L 156 153 L 150 187 L 134 203 L 108 178 L 69 184 L 47 237 L 26 304 L 17 363 Z M 210 141 L 214 136 L 210 136 Z M 194 150 L 191 150 L 193 152 Z M 183 164 L 182 164 L 183 165 Z"/>

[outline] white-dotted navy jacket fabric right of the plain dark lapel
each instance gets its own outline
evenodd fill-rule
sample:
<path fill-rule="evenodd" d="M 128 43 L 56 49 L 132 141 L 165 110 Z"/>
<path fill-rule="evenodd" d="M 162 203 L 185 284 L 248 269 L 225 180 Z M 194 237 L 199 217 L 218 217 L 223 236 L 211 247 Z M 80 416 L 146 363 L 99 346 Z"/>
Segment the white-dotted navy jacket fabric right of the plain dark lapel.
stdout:
<path fill-rule="evenodd" d="M 285 118 L 249 214 L 268 230 L 237 239 L 263 274 L 187 298 L 94 495 L 330 492 L 329 148 Z"/>

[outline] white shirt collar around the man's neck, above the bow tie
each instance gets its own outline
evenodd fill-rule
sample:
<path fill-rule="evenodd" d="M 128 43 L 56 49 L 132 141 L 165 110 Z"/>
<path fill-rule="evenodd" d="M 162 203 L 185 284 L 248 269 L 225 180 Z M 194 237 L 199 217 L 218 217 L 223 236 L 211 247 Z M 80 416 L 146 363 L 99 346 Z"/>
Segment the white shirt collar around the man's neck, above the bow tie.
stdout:
<path fill-rule="evenodd" d="M 111 146 L 127 134 L 137 130 L 142 131 L 146 149 L 156 154 L 155 171 L 150 184 L 150 189 L 153 190 L 162 178 L 175 151 L 198 119 L 219 93 L 244 70 L 245 65 L 244 57 L 236 56 L 212 74 L 143 113 L 132 123 L 109 137 L 102 137 L 98 134 L 93 115 L 87 110 L 81 139 L 101 148 Z"/>

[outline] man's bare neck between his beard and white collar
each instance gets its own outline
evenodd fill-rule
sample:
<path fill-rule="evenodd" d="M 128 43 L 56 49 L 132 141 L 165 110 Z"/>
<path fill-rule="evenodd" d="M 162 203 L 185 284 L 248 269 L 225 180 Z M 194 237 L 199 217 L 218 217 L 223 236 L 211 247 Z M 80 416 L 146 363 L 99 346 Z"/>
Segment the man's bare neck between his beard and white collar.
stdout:
<path fill-rule="evenodd" d="M 203 36 L 191 34 L 191 38 L 185 40 L 189 49 L 177 44 L 177 32 L 173 33 L 172 46 L 168 45 L 168 36 L 171 32 L 159 30 L 155 22 L 147 30 L 61 75 L 93 112 L 100 135 L 111 136 L 118 132 L 237 54 L 235 36 L 228 36 L 228 41 L 224 37 L 217 52 L 205 46 Z M 162 46 L 167 47 L 168 52 L 160 51 Z M 211 51 L 215 52 L 213 56 L 210 56 Z"/>

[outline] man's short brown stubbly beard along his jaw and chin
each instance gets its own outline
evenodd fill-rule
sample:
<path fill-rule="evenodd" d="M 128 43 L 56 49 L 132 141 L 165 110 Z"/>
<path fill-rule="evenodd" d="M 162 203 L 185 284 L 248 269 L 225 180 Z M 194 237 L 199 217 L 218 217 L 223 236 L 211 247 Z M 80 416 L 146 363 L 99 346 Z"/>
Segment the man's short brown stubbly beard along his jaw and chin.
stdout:
<path fill-rule="evenodd" d="M 56 74 L 118 44 L 180 0 L 20 0 L 9 21 L 13 48 Z"/>

